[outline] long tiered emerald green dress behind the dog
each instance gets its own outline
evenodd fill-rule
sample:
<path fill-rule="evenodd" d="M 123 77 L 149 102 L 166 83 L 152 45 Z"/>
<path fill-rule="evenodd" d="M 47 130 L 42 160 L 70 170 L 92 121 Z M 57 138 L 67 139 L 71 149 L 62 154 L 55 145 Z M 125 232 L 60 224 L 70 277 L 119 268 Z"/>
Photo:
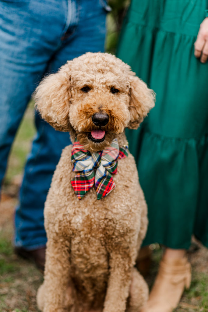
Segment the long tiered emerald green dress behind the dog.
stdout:
<path fill-rule="evenodd" d="M 208 63 L 194 56 L 207 0 L 132 0 L 117 56 L 156 92 L 138 130 L 127 130 L 148 204 L 143 245 L 208 246 Z M 206 15 L 207 14 L 207 15 Z"/>

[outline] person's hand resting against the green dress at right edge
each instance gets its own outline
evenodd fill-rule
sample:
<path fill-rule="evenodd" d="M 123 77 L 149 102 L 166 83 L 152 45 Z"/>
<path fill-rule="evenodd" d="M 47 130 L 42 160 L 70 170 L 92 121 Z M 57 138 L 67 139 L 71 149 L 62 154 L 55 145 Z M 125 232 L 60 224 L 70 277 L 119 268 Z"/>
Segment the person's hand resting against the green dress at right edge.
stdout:
<path fill-rule="evenodd" d="M 202 63 L 206 63 L 208 58 L 208 17 L 200 25 L 194 46 L 194 55 L 200 58 Z"/>

